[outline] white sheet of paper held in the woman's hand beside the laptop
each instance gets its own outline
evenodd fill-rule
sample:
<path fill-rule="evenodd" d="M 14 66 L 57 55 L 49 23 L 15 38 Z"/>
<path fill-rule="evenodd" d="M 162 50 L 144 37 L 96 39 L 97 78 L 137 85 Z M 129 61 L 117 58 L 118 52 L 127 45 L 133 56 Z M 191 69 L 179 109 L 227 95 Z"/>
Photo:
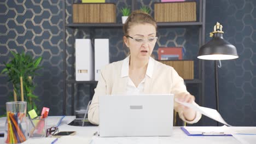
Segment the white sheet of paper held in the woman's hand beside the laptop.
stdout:
<path fill-rule="evenodd" d="M 200 113 L 202 113 L 202 115 L 210 117 L 210 118 L 214 119 L 215 121 L 218 121 L 218 122 L 223 123 L 225 125 L 229 125 L 228 123 L 226 123 L 224 121 L 222 116 L 220 116 L 219 112 L 214 110 L 214 109 L 210 109 L 210 108 L 202 107 L 202 106 L 197 106 L 197 105 L 193 105 L 193 104 L 189 104 L 189 103 L 183 103 L 183 102 L 179 101 L 178 99 L 175 99 L 175 101 L 177 103 L 180 103 L 180 104 L 184 105 L 184 106 L 188 106 L 189 108 L 191 108 L 195 111 L 199 111 Z M 231 126 L 231 125 L 229 125 L 229 126 Z"/>

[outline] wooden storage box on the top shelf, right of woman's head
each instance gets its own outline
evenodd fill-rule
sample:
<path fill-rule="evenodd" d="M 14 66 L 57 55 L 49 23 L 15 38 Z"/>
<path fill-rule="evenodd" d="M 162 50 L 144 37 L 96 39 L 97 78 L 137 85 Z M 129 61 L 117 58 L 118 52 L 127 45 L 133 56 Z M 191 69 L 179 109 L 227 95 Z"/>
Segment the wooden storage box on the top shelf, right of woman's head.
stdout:
<path fill-rule="evenodd" d="M 196 21 L 196 2 L 155 3 L 156 22 Z"/>

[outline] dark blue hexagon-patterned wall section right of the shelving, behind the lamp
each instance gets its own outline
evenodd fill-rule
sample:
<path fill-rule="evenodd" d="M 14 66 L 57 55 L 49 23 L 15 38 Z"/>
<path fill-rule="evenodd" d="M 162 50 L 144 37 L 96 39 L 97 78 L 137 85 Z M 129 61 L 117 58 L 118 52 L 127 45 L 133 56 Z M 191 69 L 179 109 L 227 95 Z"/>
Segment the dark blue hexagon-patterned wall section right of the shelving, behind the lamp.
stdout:
<path fill-rule="evenodd" d="M 236 46 L 238 59 L 222 61 L 219 109 L 231 125 L 256 125 L 256 1 L 206 1 L 206 34 L 218 21 L 224 39 Z M 206 36 L 206 41 L 210 40 Z M 214 63 L 206 61 L 206 106 L 214 108 Z M 206 124 L 214 124 L 212 121 Z"/>

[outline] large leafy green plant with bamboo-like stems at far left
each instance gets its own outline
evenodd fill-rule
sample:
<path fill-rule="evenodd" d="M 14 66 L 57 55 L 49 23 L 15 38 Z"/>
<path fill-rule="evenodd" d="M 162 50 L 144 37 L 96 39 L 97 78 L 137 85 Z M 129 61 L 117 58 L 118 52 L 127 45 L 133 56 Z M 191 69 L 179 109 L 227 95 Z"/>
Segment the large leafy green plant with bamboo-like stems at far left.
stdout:
<path fill-rule="evenodd" d="M 41 69 L 39 64 L 42 57 L 33 59 L 30 55 L 22 53 L 15 53 L 10 51 L 13 57 L 10 57 L 9 63 L 4 63 L 5 68 L 1 74 L 7 74 L 11 83 L 13 83 L 14 101 L 27 101 L 27 111 L 32 109 L 37 110 L 36 100 L 39 100 L 36 95 L 33 94 L 33 90 L 36 87 L 32 82 L 34 76 L 37 76 L 36 70 Z"/>

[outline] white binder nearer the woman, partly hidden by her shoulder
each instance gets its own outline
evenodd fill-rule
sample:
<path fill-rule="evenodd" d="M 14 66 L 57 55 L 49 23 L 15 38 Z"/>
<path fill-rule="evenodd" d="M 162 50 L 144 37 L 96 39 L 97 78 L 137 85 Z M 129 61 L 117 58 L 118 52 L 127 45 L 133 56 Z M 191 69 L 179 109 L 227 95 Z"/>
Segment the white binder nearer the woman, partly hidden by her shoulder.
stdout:
<path fill-rule="evenodd" d="M 95 81 L 100 79 L 101 69 L 109 64 L 109 40 L 95 39 Z"/>

